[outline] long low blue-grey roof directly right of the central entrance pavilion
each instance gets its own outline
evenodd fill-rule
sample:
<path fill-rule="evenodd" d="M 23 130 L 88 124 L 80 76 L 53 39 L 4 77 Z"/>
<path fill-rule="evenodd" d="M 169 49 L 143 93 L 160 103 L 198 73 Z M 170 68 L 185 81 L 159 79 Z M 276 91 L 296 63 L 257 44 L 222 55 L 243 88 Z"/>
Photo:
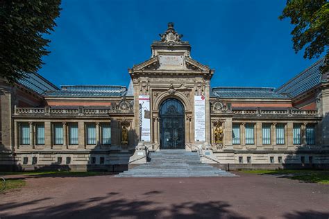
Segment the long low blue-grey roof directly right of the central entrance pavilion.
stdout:
<path fill-rule="evenodd" d="M 219 98 L 254 98 L 254 99 L 287 99 L 271 87 L 214 87 L 212 96 Z"/>

